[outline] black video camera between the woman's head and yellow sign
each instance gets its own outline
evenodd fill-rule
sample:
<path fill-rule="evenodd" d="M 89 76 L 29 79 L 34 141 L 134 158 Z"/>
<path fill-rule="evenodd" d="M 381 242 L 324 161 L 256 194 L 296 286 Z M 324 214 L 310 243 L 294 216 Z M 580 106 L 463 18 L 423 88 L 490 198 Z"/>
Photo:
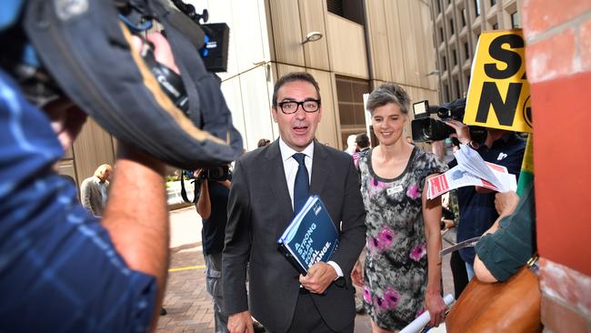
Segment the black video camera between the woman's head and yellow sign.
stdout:
<path fill-rule="evenodd" d="M 413 141 L 430 142 L 446 139 L 449 135 L 456 133 L 456 130 L 451 126 L 447 126 L 445 120 L 454 119 L 461 122 L 464 119 L 465 111 L 466 98 L 456 99 L 442 106 L 429 106 L 429 102 L 426 100 L 414 103 L 413 113 L 415 119 L 410 123 Z M 441 120 L 432 118 L 430 115 L 437 115 Z M 485 127 L 468 127 L 472 140 L 478 144 L 485 142 L 487 136 Z"/>

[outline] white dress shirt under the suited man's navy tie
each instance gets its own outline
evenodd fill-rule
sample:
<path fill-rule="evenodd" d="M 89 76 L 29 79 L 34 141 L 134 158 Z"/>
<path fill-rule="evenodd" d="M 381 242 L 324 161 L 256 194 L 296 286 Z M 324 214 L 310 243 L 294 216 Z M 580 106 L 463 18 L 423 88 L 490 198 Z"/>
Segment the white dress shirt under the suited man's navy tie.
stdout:
<path fill-rule="evenodd" d="M 297 174 L 297 168 L 299 164 L 294 158 L 295 153 L 302 153 L 306 155 L 304 157 L 304 164 L 308 170 L 308 185 L 312 179 L 312 163 L 314 161 L 314 141 L 311 142 L 304 150 L 295 151 L 290 146 L 287 146 L 283 141 L 283 138 L 279 136 L 279 151 L 281 152 L 281 160 L 283 161 L 283 168 L 285 171 L 285 180 L 287 180 L 287 189 L 289 191 L 289 197 L 291 198 L 291 207 L 294 208 L 294 183 L 295 175 Z M 335 268 L 336 275 L 338 278 L 343 277 L 343 269 L 334 261 L 328 261 L 326 264 Z"/>

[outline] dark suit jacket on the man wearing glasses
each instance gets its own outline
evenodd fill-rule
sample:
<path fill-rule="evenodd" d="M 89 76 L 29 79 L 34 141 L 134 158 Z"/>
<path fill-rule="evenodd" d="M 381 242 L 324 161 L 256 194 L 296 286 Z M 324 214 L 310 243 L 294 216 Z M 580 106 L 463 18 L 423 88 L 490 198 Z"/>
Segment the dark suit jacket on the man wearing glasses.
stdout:
<path fill-rule="evenodd" d="M 344 278 L 324 295 L 311 295 L 328 327 L 340 330 L 355 319 L 350 273 L 366 239 L 366 211 L 351 156 L 315 143 L 310 195 L 315 194 L 340 230 L 331 260 L 343 269 Z M 278 140 L 241 157 L 228 201 L 222 268 L 228 314 L 248 309 L 245 274 L 250 261 L 251 314 L 271 331 L 289 328 L 299 295 L 298 273 L 278 251 L 277 239 L 293 217 Z"/>

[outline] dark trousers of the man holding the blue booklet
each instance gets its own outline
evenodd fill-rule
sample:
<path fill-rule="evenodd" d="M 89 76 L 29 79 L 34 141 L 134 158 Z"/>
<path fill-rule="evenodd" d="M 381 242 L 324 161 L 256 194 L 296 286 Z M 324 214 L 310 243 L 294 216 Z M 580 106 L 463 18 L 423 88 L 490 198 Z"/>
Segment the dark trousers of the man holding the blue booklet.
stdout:
<path fill-rule="evenodd" d="M 314 305 L 310 294 L 300 293 L 295 305 L 294 320 L 287 333 L 353 333 L 355 320 L 343 330 L 335 331 L 326 326 L 325 320 Z"/>

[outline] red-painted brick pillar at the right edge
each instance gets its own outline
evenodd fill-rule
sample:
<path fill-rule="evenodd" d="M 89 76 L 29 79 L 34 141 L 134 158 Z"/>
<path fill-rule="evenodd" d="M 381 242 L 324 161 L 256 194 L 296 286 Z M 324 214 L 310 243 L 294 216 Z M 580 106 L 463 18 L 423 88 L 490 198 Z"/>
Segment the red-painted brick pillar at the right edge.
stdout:
<path fill-rule="evenodd" d="M 546 331 L 591 332 L 591 0 L 524 0 Z"/>

